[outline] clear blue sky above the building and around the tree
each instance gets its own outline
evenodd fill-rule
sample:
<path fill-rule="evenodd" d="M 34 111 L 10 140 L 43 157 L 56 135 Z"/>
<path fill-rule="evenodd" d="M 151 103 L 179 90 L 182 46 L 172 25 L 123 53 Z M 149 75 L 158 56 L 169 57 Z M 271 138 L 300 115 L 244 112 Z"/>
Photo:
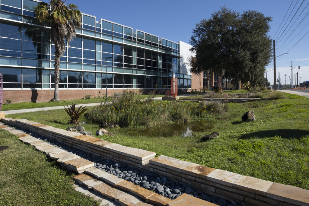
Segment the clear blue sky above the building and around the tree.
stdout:
<path fill-rule="evenodd" d="M 206 0 L 134 0 L 134 1 L 102 1 L 102 0 L 91 0 L 91 1 L 72 1 L 69 3 L 74 3 L 78 6 L 79 10 L 83 13 L 96 16 L 97 19 L 106 19 L 116 23 L 120 23 L 125 26 L 133 27 L 133 29 L 142 30 L 159 37 L 163 37 L 172 41 L 177 42 L 178 40 L 189 43 L 190 37 L 192 35 L 192 29 L 195 24 L 200 22 L 202 19 L 209 19 L 214 11 L 218 11 L 220 6 L 226 6 L 235 11 L 246 11 L 246 10 L 256 10 L 263 13 L 265 16 L 270 16 L 273 21 L 270 23 L 271 29 L 269 35 L 271 38 L 275 36 L 279 25 L 284 18 L 292 0 L 238 0 L 238 1 L 206 1 Z M 297 4 L 296 4 L 297 2 Z M 285 27 L 290 22 L 290 19 L 295 14 L 295 11 L 301 4 L 301 0 L 294 0 L 287 16 L 290 15 L 292 8 L 295 6 L 289 20 L 287 21 Z M 306 7 L 308 1 L 305 0 L 303 5 L 300 7 L 299 11 L 296 13 L 294 19 L 291 21 L 290 25 L 287 27 L 285 33 L 287 35 L 282 38 L 281 42 L 278 43 L 277 55 L 286 53 L 298 40 L 300 40 L 308 31 L 309 17 L 307 17 L 300 26 L 295 29 L 295 33 L 291 36 L 286 43 L 280 45 L 284 39 L 294 31 L 296 25 L 300 22 L 304 15 L 309 11 L 309 5 Z M 304 9 L 304 11 L 303 11 Z M 301 14 L 301 12 L 303 13 Z M 301 14 L 301 15 L 300 15 Z M 297 19 L 298 15 L 300 17 L 293 25 L 289 32 L 288 29 Z M 282 25 L 285 23 L 284 19 Z M 281 27 L 282 27 L 281 25 Z M 281 30 L 281 27 L 279 31 Z M 285 29 L 282 29 L 281 32 Z M 304 28 L 304 29 L 303 29 Z M 301 31 L 303 29 L 303 31 Z M 301 32 L 300 32 L 301 31 Z M 296 34 L 300 32 L 297 36 Z M 284 34 L 282 36 L 284 36 Z M 275 36 L 277 39 L 277 35 Z M 295 38 L 294 38 L 295 37 Z M 294 38 L 294 39 L 293 39 Z M 293 39 L 293 40 L 292 40 Z M 291 41 L 291 42 L 290 42 Z M 290 44 L 288 44 L 290 42 Z M 301 66 L 300 77 L 301 81 L 309 80 L 309 34 L 305 36 L 301 41 L 298 42 L 290 51 L 289 54 L 282 55 L 276 61 L 277 76 L 280 72 L 280 76 L 283 78 L 281 83 L 284 84 L 284 74 L 287 74 L 287 84 L 289 75 L 291 75 L 291 70 L 289 66 L 291 61 L 293 61 L 293 79 L 294 71 L 298 71 L 298 65 Z M 285 47 L 286 46 L 286 47 Z M 285 47 L 285 48 L 284 48 Z M 308 61 L 306 61 L 308 60 Z M 303 62 L 304 61 L 304 62 Z M 273 62 L 272 62 L 273 63 Z M 270 63 L 267 69 L 273 69 L 273 65 Z M 296 71 L 296 72 L 297 72 Z M 266 73 L 265 73 L 266 77 Z M 271 84 L 273 84 L 273 71 L 268 72 L 268 79 Z M 294 81 L 293 81 L 294 82 Z"/>

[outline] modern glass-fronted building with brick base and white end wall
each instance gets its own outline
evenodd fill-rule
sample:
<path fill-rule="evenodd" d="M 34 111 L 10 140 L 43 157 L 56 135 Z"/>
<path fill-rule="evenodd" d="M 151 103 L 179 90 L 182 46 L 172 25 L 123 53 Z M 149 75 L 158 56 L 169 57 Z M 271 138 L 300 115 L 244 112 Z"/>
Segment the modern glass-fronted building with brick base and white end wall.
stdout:
<path fill-rule="evenodd" d="M 54 52 L 50 28 L 37 24 L 39 1 L 0 0 L 0 73 L 3 98 L 46 102 L 53 98 Z M 124 89 L 149 91 L 171 87 L 199 89 L 203 75 L 190 73 L 190 45 L 173 42 L 118 23 L 82 14 L 77 31 L 60 59 L 61 100 L 108 95 Z M 202 82 L 201 82 L 202 80 Z"/>

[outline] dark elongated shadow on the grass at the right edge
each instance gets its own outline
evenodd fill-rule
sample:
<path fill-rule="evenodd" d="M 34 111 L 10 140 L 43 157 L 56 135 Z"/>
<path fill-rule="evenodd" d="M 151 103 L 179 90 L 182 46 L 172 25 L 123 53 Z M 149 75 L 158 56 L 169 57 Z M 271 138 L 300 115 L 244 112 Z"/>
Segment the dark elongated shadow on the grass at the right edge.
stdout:
<path fill-rule="evenodd" d="M 295 138 L 299 139 L 300 137 L 309 135 L 309 131 L 301 129 L 275 129 L 275 130 L 264 130 L 259 132 L 252 132 L 249 134 L 244 134 L 240 138 L 248 139 L 252 137 L 275 137 L 279 136 L 282 138 L 290 139 Z"/>

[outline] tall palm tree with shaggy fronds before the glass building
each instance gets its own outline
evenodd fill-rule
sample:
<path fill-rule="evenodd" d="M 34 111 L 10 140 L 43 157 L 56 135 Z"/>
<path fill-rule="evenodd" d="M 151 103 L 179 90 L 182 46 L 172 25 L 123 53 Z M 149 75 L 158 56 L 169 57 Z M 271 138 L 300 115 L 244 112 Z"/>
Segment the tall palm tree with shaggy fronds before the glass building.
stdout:
<path fill-rule="evenodd" d="M 67 4 L 66 1 L 51 0 L 49 3 L 40 2 L 35 8 L 37 21 L 42 25 L 51 27 L 51 40 L 55 44 L 55 91 L 52 101 L 60 101 L 59 99 L 59 65 L 60 56 L 66 49 L 65 39 L 69 42 L 76 37 L 75 27 L 80 29 L 81 12 L 75 4 Z"/>

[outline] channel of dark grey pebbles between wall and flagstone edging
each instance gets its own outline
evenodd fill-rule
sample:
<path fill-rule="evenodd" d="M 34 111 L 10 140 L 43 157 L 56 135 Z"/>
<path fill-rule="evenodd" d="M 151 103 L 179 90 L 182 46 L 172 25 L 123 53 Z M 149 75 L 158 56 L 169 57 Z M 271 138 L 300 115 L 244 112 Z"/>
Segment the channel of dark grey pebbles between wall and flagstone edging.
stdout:
<path fill-rule="evenodd" d="M 6 126 L 11 127 L 9 125 Z M 112 160 L 109 159 L 100 158 L 90 153 L 76 149 L 74 147 L 65 145 L 61 142 L 43 137 L 40 134 L 31 132 L 23 128 L 19 127 L 11 127 L 11 128 L 19 130 L 20 132 L 26 133 L 28 135 L 31 135 L 32 137 L 47 142 L 50 145 L 63 149 L 72 154 L 76 154 L 86 160 L 94 162 L 94 166 L 100 170 L 116 175 L 121 179 L 125 179 L 150 191 L 154 191 L 155 193 L 170 198 L 171 200 L 174 200 L 180 195 L 186 193 L 188 195 L 192 195 L 194 197 L 200 198 L 202 200 L 214 204 L 218 204 L 220 206 L 233 206 L 233 205 L 241 206 L 241 204 L 236 204 L 233 200 L 227 201 L 222 198 L 218 198 L 217 196 L 207 195 L 200 190 L 196 190 L 192 187 L 189 187 L 186 184 L 171 180 L 164 175 L 160 175 L 155 172 L 145 172 L 137 170 L 136 168 L 133 168 L 127 164 L 113 162 Z"/>

